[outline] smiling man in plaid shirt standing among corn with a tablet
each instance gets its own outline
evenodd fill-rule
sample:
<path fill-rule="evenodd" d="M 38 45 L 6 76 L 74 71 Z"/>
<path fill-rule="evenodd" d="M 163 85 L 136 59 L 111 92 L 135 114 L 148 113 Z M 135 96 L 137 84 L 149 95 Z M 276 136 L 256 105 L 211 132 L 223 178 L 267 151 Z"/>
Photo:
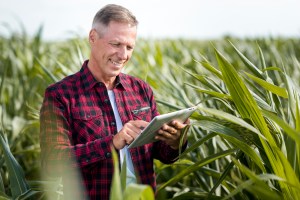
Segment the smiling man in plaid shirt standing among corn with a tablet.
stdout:
<path fill-rule="evenodd" d="M 40 113 L 42 167 L 62 176 L 67 199 L 109 199 L 111 148 L 121 162 L 126 157 L 128 184 L 149 184 L 154 190 L 153 159 L 172 163 L 178 157 L 185 124 L 177 121 L 158 131 L 158 142 L 127 148 L 159 115 L 149 85 L 121 72 L 133 52 L 137 24 L 124 7 L 99 10 L 89 33 L 89 60 L 46 89 Z M 82 193 L 75 195 L 80 187 Z"/>

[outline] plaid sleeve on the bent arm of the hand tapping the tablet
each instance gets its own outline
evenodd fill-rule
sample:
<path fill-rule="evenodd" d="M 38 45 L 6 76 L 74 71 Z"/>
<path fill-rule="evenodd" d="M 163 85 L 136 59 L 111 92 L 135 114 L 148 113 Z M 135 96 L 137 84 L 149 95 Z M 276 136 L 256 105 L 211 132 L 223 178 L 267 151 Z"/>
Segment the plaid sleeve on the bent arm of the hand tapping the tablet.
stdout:
<path fill-rule="evenodd" d="M 112 136 L 73 145 L 69 117 L 62 97 L 46 90 L 40 111 L 40 147 L 42 169 L 48 175 L 61 176 L 66 171 L 88 169 L 96 162 L 111 158 Z"/>

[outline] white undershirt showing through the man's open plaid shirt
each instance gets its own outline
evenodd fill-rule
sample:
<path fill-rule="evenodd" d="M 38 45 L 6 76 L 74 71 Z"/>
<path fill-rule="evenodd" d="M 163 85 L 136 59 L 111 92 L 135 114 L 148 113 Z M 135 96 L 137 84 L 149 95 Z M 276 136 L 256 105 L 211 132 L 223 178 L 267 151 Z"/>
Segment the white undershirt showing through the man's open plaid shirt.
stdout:
<path fill-rule="evenodd" d="M 108 96 L 109 96 L 110 103 L 112 105 L 112 109 L 114 111 L 114 115 L 115 115 L 115 119 L 116 119 L 116 123 L 117 123 L 117 130 L 119 132 L 122 129 L 123 124 L 122 124 L 122 121 L 121 121 L 121 118 L 120 118 L 120 115 L 119 115 L 119 111 L 118 111 L 118 108 L 117 108 L 115 94 L 112 90 L 108 90 Z M 134 174 L 132 159 L 131 159 L 130 152 L 129 152 L 129 149 L 128 149 L 127 145 L 123 149 L 120 150 L 121 166 L 123 164 L 125 156 L 126 156 L 126 164 L 127 164 L 126 184 L 129 185 L 130 183 L 136 183 L 136 176 Z"/>

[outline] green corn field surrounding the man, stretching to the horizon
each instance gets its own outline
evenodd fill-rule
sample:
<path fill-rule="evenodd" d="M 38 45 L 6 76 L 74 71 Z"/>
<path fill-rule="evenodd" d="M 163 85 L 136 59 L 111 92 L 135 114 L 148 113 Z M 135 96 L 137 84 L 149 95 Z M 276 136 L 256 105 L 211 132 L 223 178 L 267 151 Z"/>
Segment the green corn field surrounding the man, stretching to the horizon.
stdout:
<path fill-rule="evenodd" d="M 0 35 L 1 200 L 63 199 L 61 182 L 40 169 L 39 109 L 89 45 L 42 33 Z M 138 39 L 125 73 L 151 85 L 161 113 L 198 106 L 186 151 L 155 162 L 157 199 L 300 199 L 299 38 Z M 115 167 L 112 199 L 154 198 L 122 177 Z"/>

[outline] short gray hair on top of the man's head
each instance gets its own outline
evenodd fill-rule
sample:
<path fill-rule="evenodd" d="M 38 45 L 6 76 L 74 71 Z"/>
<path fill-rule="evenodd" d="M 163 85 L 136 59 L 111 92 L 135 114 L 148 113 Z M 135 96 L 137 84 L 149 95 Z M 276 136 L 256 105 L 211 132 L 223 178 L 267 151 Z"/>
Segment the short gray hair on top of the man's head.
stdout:
<path fill-rule="evenodd" d="M 99 25 L 108 26 L 111 21 L 129 23 L 131 26 L 138 25 L 136 17 L 127 8 L 108 4 L 96 13 L 92 28 L 97 29 Z"/>

